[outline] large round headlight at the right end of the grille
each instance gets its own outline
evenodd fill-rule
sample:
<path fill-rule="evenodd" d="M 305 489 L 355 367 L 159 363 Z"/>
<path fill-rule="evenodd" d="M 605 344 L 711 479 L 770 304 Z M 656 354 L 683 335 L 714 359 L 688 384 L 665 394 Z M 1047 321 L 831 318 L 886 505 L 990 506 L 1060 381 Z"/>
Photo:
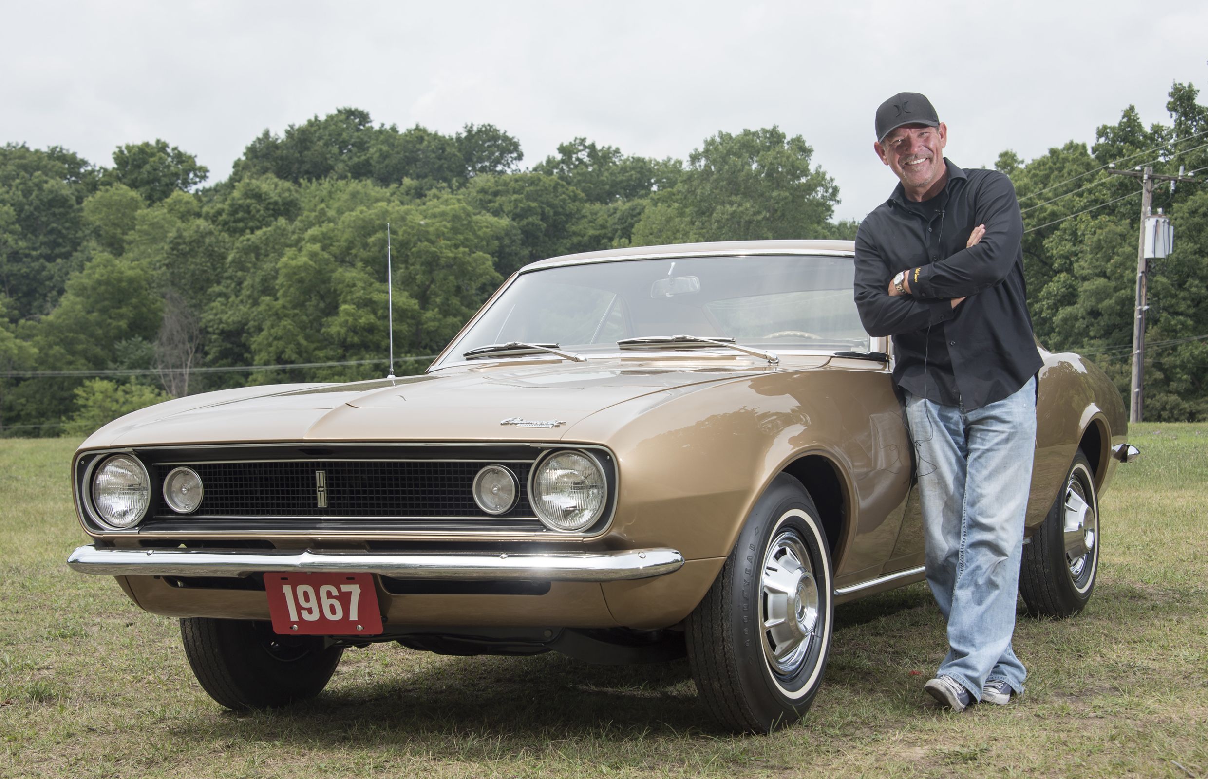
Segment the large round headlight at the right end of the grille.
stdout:
<path fill-rule="evenodd" d="M 583 452 L 557 452 L 538 464 L 529 500 L 538 518 L 552 530 L 582 530 L 604 513 L 608 487 L 604 469 Z"/>

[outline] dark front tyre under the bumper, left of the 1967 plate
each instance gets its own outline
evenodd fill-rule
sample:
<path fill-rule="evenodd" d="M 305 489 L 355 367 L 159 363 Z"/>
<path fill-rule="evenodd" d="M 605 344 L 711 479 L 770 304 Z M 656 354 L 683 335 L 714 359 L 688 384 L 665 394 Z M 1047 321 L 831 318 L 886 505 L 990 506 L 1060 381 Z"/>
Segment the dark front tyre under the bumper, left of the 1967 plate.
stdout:
<path fill-rule="evenodd" d="M 319 694 L 343 647 L 321 636 L 277 635 L 269 622 L 187 617 L 180 638 L 193 675 L 228 709 L 266 709 Z"/>

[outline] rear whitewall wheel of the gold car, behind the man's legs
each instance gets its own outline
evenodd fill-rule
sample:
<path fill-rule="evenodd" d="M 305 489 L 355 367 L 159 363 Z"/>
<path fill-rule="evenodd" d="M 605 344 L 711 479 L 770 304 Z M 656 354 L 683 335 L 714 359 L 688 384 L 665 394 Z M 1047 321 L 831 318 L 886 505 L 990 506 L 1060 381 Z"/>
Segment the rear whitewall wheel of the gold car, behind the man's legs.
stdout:
<path fill-rule="evenodd" d="M 1049 516 L 1023 547 L 1020 594 L 1028 612 L 1069 617 L 1086 606 L 1099 571 L 1099 500 L 1081 450 Z"/>

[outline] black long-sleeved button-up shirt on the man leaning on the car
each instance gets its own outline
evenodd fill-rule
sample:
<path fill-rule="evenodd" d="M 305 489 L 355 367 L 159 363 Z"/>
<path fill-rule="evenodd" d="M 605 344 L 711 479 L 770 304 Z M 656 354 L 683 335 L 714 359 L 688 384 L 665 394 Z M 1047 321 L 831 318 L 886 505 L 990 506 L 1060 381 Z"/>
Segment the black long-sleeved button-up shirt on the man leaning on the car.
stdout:
<path fill-rule="evenodd" d="M 981 408 L 1016 393 L 1043 364 L 1023 283 L 1023 217 L 1011 180 L 962 170 L 930 200 L 901 184 L 855 237 L 855 304 L 865 330 L 894 338 L 894 379 L 912 395 Z M 965 248 L 969 233 L 986 236 Z M 889 295 L 899 271 L 910 295 Z M 951 300 L 965 297 L 952 308 Z"/>

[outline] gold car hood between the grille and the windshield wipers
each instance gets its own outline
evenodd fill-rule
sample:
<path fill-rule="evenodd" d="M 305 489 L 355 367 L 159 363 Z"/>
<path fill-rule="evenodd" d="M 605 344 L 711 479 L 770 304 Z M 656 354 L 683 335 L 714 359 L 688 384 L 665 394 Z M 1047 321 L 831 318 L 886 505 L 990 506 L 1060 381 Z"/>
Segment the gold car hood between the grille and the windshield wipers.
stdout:
<path fill-rule="evenodd" d="M 145 408 L 101 428 L 85 447 L 557 441 L 577 422 L 616 403 L 773 370 L 762 360 L 742 356 L 496 362 L 353 384 L 243 388 Z"/>

